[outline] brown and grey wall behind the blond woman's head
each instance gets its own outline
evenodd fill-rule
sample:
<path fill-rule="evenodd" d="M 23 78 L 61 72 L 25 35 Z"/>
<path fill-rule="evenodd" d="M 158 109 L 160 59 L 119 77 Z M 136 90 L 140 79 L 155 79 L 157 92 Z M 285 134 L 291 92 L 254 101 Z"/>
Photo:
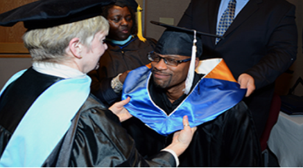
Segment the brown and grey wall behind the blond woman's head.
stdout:
<path fill-rule="evenodd" d="M 36 0 L 0 0 L 0 13 Z M 31 66 L 31 57 L 21 39 L 26 29 L 22 23 L 12 28 L 0 26 L 0 88 L 18 71 Z"/>

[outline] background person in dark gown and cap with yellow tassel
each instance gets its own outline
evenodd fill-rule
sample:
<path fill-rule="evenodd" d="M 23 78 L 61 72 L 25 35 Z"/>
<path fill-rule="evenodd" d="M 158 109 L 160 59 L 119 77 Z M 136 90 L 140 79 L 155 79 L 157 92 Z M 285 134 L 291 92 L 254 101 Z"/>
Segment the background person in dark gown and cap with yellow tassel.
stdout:
<path fill-rule="evenodd" d="M 135 0 L 118 0 L 103 8 L 103 16 L 110 23 L 106 39 L 108 49 L 99 61 L 100 67 L 90 72 L 89 76 L 92 77 L 92 93 L 108 106 L 121 100 L 128 72 L 150 63 L 146 54 L 154 50 L 157 42 L 136 35 L 137 27 L 141 26 L 136 24 L 137 8 Z"/>

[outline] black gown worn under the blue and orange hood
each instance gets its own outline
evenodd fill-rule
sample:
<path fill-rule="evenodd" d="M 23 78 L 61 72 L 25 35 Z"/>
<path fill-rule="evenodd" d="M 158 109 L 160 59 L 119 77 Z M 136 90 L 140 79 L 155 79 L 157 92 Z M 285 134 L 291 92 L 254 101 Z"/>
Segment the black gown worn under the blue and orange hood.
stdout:
<path fill-rule="evenodd" d="M 200 77 L 196 74 L 195 82 L 198 79 Z M 168 114 L 186 97 L 183 95 L 171 104 L 166 95 L 153 86 L 153 82 L 150 82 L 149 90 L 155 104 Z M 159 135 L 137 118 L 122 124 L 134 138 L 142 156 L 153 156 L 173 137 Z M 180 167 L 261 167 L 261 162 L 261 147 L 254 122 L 244 102 L 216 119 L 200 124 L 189 148 L 180 156 Z"/>

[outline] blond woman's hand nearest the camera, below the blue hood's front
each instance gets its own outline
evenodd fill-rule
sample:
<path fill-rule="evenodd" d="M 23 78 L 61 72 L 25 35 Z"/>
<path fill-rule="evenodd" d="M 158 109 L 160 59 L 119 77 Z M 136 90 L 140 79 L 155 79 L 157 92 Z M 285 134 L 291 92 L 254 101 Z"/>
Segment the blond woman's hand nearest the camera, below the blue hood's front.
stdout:
<path fill-rule="evenodd" d="M 175 132 L 173 134 L 173 142 L 166 147 L 166 149 L 171 149 L 175 151 L 177 156 L 180 156 L 189 147 L 191 140 L 193 139 L 193 133 L 197 130 L 197 127 L 191 128 L 189 126 L 189 119 L 187 115 L 183 118 L 184 129 Z"/>

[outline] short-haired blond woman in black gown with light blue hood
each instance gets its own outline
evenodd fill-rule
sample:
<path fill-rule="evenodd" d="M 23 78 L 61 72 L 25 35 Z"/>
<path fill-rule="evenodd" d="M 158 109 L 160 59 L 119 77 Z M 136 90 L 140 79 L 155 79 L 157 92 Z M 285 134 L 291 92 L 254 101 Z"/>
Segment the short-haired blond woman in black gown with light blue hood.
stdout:
<path fill-rule="evenodd" d="M 33 57 L 0 92 L 0 167 L 178 166 L 195 131 L 187 116 L 173 142 L 145 160 L 121 127 L 129 99 L 105 109 L 90 94 L 86 74 L 107 49 L 100 8 L 113 2 L 42 0 L 0 15 L 0 26 L 24 21 Z"/>

